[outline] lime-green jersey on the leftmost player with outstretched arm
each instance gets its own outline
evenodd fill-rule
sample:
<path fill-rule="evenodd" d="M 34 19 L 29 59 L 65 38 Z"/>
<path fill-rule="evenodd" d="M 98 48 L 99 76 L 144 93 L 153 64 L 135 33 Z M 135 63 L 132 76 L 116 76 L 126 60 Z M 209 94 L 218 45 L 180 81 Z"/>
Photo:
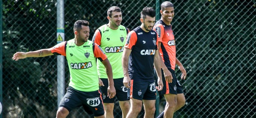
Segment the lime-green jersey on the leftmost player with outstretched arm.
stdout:
<path fill-rule="evenodd" d="M 54 55 L 66 56 L 70 73 L 69 86 L 86 92 L 99 90 L 96 58 L 102 61 L 106 59 L 106 55 L 97 44 L 88 40 L 83 45 L 76 46 L 75 39 L 71 39 L 50 49 Z"/>

